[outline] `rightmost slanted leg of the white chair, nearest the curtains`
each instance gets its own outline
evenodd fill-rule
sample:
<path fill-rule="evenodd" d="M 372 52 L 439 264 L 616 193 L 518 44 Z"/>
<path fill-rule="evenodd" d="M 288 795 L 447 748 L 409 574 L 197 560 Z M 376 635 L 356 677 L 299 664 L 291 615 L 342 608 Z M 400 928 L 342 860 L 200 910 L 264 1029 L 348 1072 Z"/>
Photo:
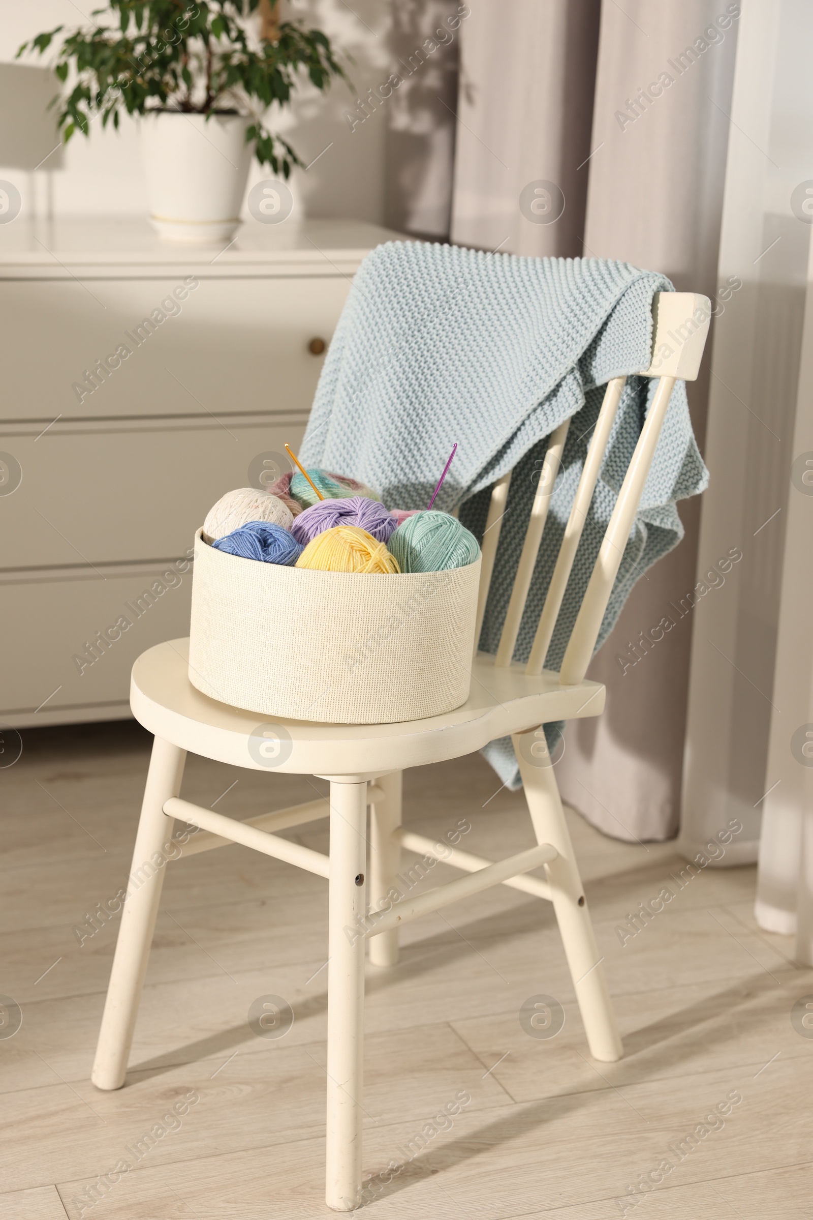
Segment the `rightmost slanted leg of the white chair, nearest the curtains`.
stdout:
<path fill-rule="evenodd" d="M 545 867 L 590 1054 L 594 1059 L 613 1063 L 622 1058 L 623 1048 L 556 776 L 551 765 L 534 766 L 524 758 L 520 742 L 525 736 L 514 733 L 512 741 L 536 842 L 551 843 L 558 852 L 556 860 Z"/>

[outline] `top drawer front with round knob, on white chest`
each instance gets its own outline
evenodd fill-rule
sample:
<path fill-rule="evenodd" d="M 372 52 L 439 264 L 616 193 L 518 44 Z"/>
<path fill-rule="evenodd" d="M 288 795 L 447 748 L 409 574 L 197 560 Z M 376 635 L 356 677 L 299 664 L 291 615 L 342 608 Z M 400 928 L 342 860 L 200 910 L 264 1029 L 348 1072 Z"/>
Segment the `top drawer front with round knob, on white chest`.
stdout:
<path fill-rule="evenodd" d="M 0 421 L 310 410 L 350 277 L 195 282 L 0 282 Z"/>

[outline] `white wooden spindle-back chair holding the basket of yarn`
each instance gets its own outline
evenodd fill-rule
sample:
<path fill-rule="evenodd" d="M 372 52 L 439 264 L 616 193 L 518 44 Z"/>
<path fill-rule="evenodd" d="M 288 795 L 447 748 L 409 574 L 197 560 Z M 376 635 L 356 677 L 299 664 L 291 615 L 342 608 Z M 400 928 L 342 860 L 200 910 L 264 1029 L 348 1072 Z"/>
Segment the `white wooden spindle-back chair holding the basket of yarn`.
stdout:
<path fill-rule="evenodd" d="M 546 756 L 546 721 L 596 716 L 605 688 L 585 680 L 598 628 L 637 510 L 675 379 L 697 377 L 708 331 L 711 304 L 691 293 L 655 298 L 653 353 L 662 356 L 644 376 L 658 377 L 655 399 L 618 497 L 559 673 L 542 662 L 559 611 L 586 518 L 624 377 L 607 383 L 581 479 L 528 664 L 512 664 L 525 598 L 539 551 L 553 477 L 569 421 L 551 437 L 496 656 L 479 654 L 472 665 L 472 694 L 462 708 L 442 716 L 395 725 L 344 726 L 283 721 L 277 737 L 261 745 L 279 771 L 330 781 L 329 800 L 238 822 L 178 795 L 186 750 L 262 770 L 257 753 L 257 716 L 216 703 L 188 678 L 186 640 L 171 640 L 144 653 L 133 667 L 130 704 L 135 719 L 155 733 L 139 822 L 133 874 L 145 875 L 126 900 L 110 988 L 99 1036 L 93 1082 L 121 1088 L 133 1039 L 150 942 L 161 897 L 163 867 L 145 870 L 172 833 L 173 820 L 199 827 L 183 854 L 243 843 L 327 877 L 329 893 L 327 1203 L 352 1210 L 361 1193 L 362 1050 L 364 941 L 374 965 L 391 966 L 399 955 L 399 927 L 497 883 L 553 903 L 590 1052 L 612 1061 L 622 1044 L 598 960 L 590 914 L 573 856 L 553 769 Z M 705 318 L 705 320 L 702 320 Z M 680 345 L 667 333 L 683 338 Z M 478 628 L 483 621 L 511 475 L 494 487 L 483 547 Z M 252 733 L 255 734 L 252 738 Z M 486 742 L 511 734 L 524 783 L 536 847 L 496 864 L 442 848 L 401 826 L 401 772 L 405 767 L 470 754 Z M 536 734 L 536 736 L 534 736 Z M 250 747 L 254 753 L 250 752 Z M 533 754 L 530 749 L 533 748 Z M 285 756 L 286 755 L 286 756 Z M 535 760 L 535 761 L 534 761 Z M 541 760 L 542 765 L 539 765 Z M 547 765 L 545 765 L 547 764 Z M 371 808 L 369 866 L 367 806 Z M 330 855 L 280 838 L 275 831 L 330 817 Z M 392 902 L 401 848 L 442 858 L 463 877 L 436 889 Z M 174 853 L 173 853 L 174 854 Z M 163 859 L 163 856 L 162 856 Z M 528 871 L 544 865 L 546 880 Z M 369 871 L 369 876 L 366 877 Z M 149 875 L 151 872 L 151 875 Z M 350 935 L 347 935 L 350 930 Z M 353 935 L 357 930 L 358 935 Z"/>

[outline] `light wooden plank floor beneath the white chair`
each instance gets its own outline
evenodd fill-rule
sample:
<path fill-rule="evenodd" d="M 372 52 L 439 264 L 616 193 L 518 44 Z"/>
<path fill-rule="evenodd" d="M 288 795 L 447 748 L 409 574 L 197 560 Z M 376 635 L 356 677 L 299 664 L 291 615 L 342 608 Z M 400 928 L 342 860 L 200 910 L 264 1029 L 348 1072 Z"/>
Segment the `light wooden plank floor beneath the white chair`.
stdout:
<path fill-rule="evenodd" d="M 330 1215 L 327 883 L 240 847 L 171 865 L 128 1083 L 100 1093 L 88 1077 L 116 922 L 83 947 L 73 927 L 124 882 L 149 739 L 132 723 L 23 737 L 20 761 L 0 771 L 0 991 L 23 1011 L 20 1032 L 0 1038 L 1 1220 Z M 497 858 L 531 843 L 522 793 L 492 797 L 499 781 L 479 756 L 405 784 L 405 822 L 424 833 L 468 817 L 468 850 Z M 299 777 L 193 758 L 183 792 L 244 817 L 312 793 Z M 813 994 L 813 971 L 793 966 L 789 938 L 756 928 L 753 870 L 706 870 L 622 947 L 616 927 L 683 863 L 668 844 L 630 847 L 570 822 L 625 1059 L 589 1059 L 547 904 L 497 887 L 411 924 L 401 965 L 368 971 L 364 1170 L 403 1168 L 366 1214 L 609 1220 L 628 1185 L 668 1160 L 663 1183 L 627 1215 L 808 1220 L 813 1039 L 790 1011 Z M 327 850 L 325 825 L 305 827 L 302 842 Z M 540 993 L 566 1011 L 550 1041 L 519 1024 Z M 294 1008 L 280 1041 L 246 1024 L 264 994 Z M 99 1174 L 134 1163 L 129 1149 L 189 1091 L 200 1100 L 179 1130 L 95 1207 L 74 1202 Z M 742 1100 L 724 1126 L 678 1163 L 667 1146 L 734 1091 Z M 430 1135 L 461 1092 L 469 1104 Z"/>

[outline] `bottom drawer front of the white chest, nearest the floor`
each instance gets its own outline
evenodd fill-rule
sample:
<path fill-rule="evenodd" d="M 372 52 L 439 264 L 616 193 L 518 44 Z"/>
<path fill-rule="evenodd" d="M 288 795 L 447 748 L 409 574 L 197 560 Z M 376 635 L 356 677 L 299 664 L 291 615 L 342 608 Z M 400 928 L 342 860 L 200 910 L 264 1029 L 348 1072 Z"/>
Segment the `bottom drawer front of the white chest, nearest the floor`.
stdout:
<path fill-rule="evenodd" d="M 0 581 L 0 725 L 128 716 L 133 661 L 189 634 L 190 599 L 184 559 Z"/>

